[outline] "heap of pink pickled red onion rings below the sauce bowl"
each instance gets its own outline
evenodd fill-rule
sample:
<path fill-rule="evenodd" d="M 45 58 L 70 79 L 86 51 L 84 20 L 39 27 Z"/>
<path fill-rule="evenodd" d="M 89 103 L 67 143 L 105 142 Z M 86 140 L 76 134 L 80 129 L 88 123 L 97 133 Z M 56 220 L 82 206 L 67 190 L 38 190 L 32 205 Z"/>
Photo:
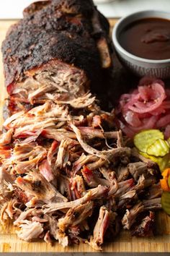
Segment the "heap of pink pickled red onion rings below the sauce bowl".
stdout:
<path fill-rule="evenodd" d="M 170 90 L 164 88 L 161 80 L 143 77 L 138 89 L 121 95 L 115 114 L 128 137 L 152 128 L 164 129 L 167 137 L 170 135 Z"/>

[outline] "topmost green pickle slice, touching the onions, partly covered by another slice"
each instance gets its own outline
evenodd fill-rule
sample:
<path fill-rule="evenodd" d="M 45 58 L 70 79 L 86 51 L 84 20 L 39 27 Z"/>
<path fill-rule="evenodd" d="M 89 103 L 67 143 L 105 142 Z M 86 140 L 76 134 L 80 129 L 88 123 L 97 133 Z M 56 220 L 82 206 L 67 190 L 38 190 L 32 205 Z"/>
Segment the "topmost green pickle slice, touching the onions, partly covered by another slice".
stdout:
<path fill-rule="evenodd" d="M 138 150 L 147 153 L 148 147 L 158 139 L 164 140 L 164 134 L 161 131 L 158 129 L 147 129 L 135 135 L 134 144 Z"/>

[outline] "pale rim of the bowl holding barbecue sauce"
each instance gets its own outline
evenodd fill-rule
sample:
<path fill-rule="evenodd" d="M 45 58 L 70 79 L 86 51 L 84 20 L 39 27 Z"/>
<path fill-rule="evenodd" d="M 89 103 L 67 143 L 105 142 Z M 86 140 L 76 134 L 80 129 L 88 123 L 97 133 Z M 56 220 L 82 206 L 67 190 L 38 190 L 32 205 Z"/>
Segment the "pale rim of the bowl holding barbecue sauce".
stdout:
<path fill-rule="evenodd" d="M 115 24 L 115 26 L 113 27 L 113 30 L 112 30 L 112 41 L 113 41 L 113 44 L 115 46 L 115 50 L 118 50 L 120 52 L 122 52 L 122 54 L 125 54 L 125 56 L 128 56 L 130 59 L 134 59 L 135 61 L 141 61 L 141 62 L 148 62 L 149 64 L 166 64 L 166 63 L 169 63 L 170 62 L 170 59 L 145 59 L 145 58 L 142 58 L 142 57 L 138 57 L 134 54 L 130 54 L 129 51 L 126 51 L 125 48 L 123 48 L 120 43 L 119 43 L 119 40 L 117 39 L 117 31 L 119 31 L 119 27 L 120 25 L 122 24 L 122 22 L 124 22 L 124 20 L 127 20 L 129 17 L 133 17 L 135 15 L 138 15 L 138 19 L 137 20 L 140 20 L 140 14 L 147 14 L 147 13 L 159 13 L 159 14 L 169 14 L 169 20 L 170 20 L 170 12 L 166 12 L 166 11 L 160 11 L 160 10 L 154 10 L 154 9 L 147 9 L 147 10 L 143 10 L 143 11 L 140 11 L 140 12 L 133 12 L 133 13 L 130 13 L 128 15 L 126 15 L 125 17 L 122 17 L 120 20 L 118 20 Z M 159 18 L 159 14 L 156 14 L 156 17 Z M 149 16 L 148 16 L 149 17 Z M 163 18 L 163 17 L 160 17 L 160 18 Z M 168 20 L 168 19 L 166 19 Z M 129 23 L 127 23 L 128 25 Z"/>

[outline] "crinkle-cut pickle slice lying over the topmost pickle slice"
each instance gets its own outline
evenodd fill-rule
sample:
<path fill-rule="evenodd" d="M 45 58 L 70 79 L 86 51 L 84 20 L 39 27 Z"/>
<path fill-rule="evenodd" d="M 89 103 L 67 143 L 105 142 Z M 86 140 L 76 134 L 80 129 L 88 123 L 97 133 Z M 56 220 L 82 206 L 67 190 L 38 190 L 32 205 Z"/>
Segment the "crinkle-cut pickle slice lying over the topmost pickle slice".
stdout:
<path fill-rule="evenodd" d="M 148 146 L 146 153 L 154 156 L 164 156 L 169 153 L 169 143 L 166 140 L 158 139 Z"/>

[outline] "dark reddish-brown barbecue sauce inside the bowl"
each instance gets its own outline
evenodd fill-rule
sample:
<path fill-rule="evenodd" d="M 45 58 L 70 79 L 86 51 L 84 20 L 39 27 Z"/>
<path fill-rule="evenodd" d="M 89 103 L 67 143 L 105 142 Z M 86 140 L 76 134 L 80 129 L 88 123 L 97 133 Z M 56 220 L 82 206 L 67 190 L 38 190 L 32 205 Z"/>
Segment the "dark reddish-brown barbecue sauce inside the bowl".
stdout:
<path fill-rule="evenodd" d="M 127 25 L 119 35 L 122 48 L 144 59 L 170 59 L 170 20 L 145 18 Z"/>

